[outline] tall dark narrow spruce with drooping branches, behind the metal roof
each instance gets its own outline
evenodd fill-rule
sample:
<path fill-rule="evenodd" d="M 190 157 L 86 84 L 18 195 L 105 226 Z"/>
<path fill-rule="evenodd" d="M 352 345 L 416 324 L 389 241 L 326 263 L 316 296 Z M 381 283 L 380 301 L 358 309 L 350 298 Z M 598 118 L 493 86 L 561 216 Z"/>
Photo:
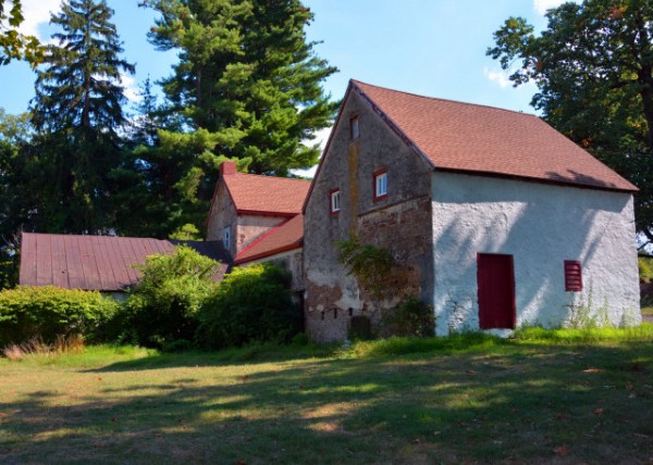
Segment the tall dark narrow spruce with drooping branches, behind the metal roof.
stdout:
<path fill-rule="evenodd" d="M 96 232 L 111 227 L 108 174 L 120 161 L 119 129 L 125 122 L 123 59 L 113 11 L 104 0 L 69 0 L 51 20 L 61 32 L 46 48 L 38 71 L 33 123 L 34 158 L 40 166 L 34 227 Z"/>

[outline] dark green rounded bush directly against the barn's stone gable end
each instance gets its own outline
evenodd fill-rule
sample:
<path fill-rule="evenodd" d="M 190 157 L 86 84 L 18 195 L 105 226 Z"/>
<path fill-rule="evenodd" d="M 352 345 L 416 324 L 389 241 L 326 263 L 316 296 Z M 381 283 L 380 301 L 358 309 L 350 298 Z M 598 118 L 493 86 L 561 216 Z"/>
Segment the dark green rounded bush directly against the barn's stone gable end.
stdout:
<path fill-rule="evenodd" d="M 289 275 L 278 266 L 236 267 L 198 313 L 198 341 L 209 349 L 250 342 L 288 342 L 301 330 Z"/>

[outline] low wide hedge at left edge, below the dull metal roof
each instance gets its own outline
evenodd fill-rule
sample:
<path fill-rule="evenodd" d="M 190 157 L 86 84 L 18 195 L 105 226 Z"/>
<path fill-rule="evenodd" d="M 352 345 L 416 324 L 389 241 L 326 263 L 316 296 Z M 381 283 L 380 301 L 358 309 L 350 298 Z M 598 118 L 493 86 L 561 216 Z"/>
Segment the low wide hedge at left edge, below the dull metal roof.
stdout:
<path fill-rule="evenodd" d="M 99 292 L 21 286 L 0 292 L 0 347 L 40 337 L 52 343 L 58 336 L 82 335 L 101 339 L 102 325 L 120 305 Z"/>

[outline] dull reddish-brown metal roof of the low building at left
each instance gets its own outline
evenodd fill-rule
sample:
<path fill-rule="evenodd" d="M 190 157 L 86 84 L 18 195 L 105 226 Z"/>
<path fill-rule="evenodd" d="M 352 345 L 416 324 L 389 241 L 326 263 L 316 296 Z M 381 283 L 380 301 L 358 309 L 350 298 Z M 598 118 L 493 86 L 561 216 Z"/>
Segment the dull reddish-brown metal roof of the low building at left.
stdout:
<path fill-rule="evenodd" d="M 215 279 L 227 271 L 229 255 L 220 242 L 23 232 L 19 282 L 120 291 L 138 281 L 134 265 L 144 264 L 147 255 L 170 253 L 181 243 L 221 262 Z"/>

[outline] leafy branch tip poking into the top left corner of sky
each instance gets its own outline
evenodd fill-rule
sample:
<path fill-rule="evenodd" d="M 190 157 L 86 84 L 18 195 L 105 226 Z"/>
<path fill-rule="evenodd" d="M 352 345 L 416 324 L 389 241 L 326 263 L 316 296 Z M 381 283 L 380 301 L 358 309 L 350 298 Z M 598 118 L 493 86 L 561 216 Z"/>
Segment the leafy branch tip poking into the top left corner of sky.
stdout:
<path fill-rule="evenodd" d="M 23 21 L 21 0 L 0 0 L 0 65 L 23 59 L 35 65 L 42 58 L 38 39 L 19 33 Z"/>

